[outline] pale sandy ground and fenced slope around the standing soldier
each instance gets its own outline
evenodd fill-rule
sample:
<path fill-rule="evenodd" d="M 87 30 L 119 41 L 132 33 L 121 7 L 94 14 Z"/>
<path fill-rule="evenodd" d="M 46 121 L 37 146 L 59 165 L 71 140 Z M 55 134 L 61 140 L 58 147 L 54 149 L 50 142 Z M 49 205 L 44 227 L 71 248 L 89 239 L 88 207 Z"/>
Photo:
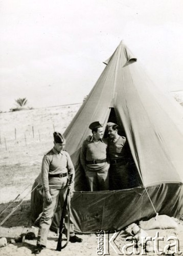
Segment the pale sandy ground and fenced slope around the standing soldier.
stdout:
<path fill-rule="evenodd" d="M 37 235 L 38 228 L 29 227 L 31 187 L 40 173 L 43 154 L 53 145 L 54 130 L 63 133 L 79 107 L 80 104 L 76 104 L 0 114 L 0 212 L 9 205 L 9 208 L 0 215 L 0 222 L 22 200 L 12 216 L 0 226 L 0 237 L 10 240 L 28 230 L 34 231 Z M 11 203 L 17 196 L 18 198 Z M 153 237 L 156 231 L 164 232 L 166 236 L 176 236 L 180 242 L 180 251 L 183 252 L 183 221 L 176 221 L 178 223 L 176 229 L 150 230 L 148 233 Z M 97 255 L 96 234 L 79 234 L 78 236 L 83 239 L 81 244 L 68 243 L 65 249 L 58 252 L 55 251 L 57 234 L 50 232 L 47 249 L 44 249 L 40 255 Z M 117 243 L 122 245 L 124 241 L 124 234 L 120 233 Z M 10 243 L 0 248 L 0 254 L 31 255 L 35 245 L 36 239 Z M 110 255 L 117 255 L 117 253 L 111 249 Z M 148 255 L 154 255 L 154 252 Z"/>

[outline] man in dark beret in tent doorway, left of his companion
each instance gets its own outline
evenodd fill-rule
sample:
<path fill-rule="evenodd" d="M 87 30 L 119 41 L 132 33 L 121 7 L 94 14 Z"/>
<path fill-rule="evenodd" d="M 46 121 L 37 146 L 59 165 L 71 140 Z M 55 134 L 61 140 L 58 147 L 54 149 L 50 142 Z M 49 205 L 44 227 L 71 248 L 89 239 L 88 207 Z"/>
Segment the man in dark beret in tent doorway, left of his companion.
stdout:
<path fill-rule="evenodd" d="M 107 143 L 103 140 L 103 125 L 93 122 L 89 125 L 92 136 L 88 136 L 81 148 L 80 161 L 89 184 L 90 191 L 108 190 L 108 169 L 106 150 Z"/>

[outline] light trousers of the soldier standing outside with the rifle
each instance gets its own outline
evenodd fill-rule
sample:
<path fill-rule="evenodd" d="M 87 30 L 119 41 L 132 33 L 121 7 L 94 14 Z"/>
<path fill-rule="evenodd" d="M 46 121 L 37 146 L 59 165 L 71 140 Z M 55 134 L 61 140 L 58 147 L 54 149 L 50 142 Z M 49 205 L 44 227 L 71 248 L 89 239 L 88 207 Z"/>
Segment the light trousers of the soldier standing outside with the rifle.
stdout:
<path fill-rule="evenodd" d="M 45 197 L 43 199 L 43 212 L 39 223 L 39 231 L 37 236 L 37 244 L 41 244 L 46 246 L 47 238 L 49 234 L 49 229 L 52 224 L 52 220 L 57 209 L 58 202 L 60 201 L 60 206 L 62 208 L 65 196 L 66 196 L 66 188 L 63 189 L 55 189 L 50 188 L 50 194 L 52 196 L 52 203 L 48 204 L 45 201 Z M 67 223 L 67 215 L 65 216 L 65 223 Z M 70 236 L 74 236 L 74 224 L 72 219 L 70 220 Z M 65 225 L 65 229 L 67 226 Z"/>

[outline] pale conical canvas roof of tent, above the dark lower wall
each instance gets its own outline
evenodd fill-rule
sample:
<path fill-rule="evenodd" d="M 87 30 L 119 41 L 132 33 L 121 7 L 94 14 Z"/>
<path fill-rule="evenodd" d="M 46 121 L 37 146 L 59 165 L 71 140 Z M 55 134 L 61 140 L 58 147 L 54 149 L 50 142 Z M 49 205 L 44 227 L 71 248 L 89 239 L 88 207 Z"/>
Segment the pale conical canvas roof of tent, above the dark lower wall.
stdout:
<path fill-rule="evenodd" d="M 105 63 L 106 68 L 64 133 L 76 166 L 76 190 L 81 168 L 79 148 L 90 134 L 88 126 L 96 120 L 106 124 L 110 108 L 115 109 L 118 124 L 124 127 L 143 185 L 181 183 L 183 136 L 178 125 L 183 125 L 181 116 L 175 114 L 179 111 L 176 102 L 161 97 L 161 91 L 122 41 Z"/>

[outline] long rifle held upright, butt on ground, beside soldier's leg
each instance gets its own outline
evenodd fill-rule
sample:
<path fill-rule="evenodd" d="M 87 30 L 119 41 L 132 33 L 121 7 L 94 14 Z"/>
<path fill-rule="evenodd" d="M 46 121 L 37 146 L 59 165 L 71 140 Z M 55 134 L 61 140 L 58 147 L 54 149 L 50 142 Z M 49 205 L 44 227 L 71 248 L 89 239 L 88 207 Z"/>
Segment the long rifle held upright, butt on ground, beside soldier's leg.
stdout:
<path fill-rule="evenodd" d="M 68 178 L 68 185 L 71 184 L 72 182 L 72 178 L 73 178 L 73 174 L 71 174 Z M 58 237 L 58 243 L 57 243 L 57 248 L 56 251 L 61 251 L 61 249 L 65 248 L 66 245 L 68 244 L 69 241 L 69 233 L 67 232 L 67 242 L 62 246 L 62 232 L 63 232 L 63 228 L 64 228 L 64 222 L 65 222 L 65 215 L 66 215 L 66 208 L 67 208 L 67 203 L 68 203 L 68 196 L 70 195 L 70 188 L 67 188 L 66 191 L 66 197 L 65 197 L 65 201 L 63 203 L 63 207 L 62 207 L 62 214 L 61 214 L 61 218 L 60 218 L 60 225 L 59 225 L 59 237 Z M 69 207 L 68 207 L 68 223 L 70 223 L 69 220 Z M 69 225 L 68 225 L 68 229 L 69 229 Z M 69 231 L 69 230 L 68 230 Z"/>

